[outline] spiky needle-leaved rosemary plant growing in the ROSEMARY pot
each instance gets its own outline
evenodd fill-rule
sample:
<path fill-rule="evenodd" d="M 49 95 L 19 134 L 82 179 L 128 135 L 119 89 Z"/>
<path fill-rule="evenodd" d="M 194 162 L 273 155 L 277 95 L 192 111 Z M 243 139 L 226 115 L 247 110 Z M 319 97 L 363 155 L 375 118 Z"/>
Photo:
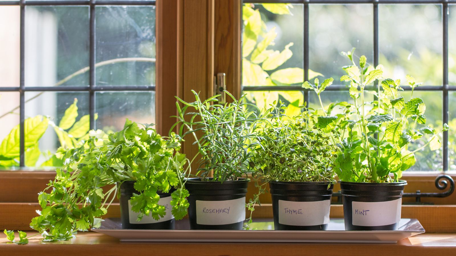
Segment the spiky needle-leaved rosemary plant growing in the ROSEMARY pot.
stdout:
<path fill-rule="evenodd" d="M 185 102 L 176 97 L 178 121 L 182 137 L 191 134 L 198 146 L 201 157 L 197 175 L 208 180 L 212 172 L 214 181 L 237 180 L 247 176 L 248 160 L 252 156 L 252 148 L 257 145 L 255 132 L 256 123 L 261 119 L 256 111 L 247 111 L 252 104 L 243 103 L 244 96 L 239 100 L 225 91 L 233 100 L 231 103 L 215 104 L 216 95 L 202 101 L 199 94 L 193 91 L 194 102 Z M 181 108 L 179 102 L 183 104 Z M 212 104 L 214 103 L 214 104 Z"/>

